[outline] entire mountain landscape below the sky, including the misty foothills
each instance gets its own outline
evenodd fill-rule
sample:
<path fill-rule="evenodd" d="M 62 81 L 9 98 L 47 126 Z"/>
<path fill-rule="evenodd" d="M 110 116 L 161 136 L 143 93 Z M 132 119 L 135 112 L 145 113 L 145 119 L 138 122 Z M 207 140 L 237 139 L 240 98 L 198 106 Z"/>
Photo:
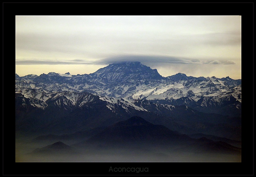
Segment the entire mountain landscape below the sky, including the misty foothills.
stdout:
<path fill-rule="evenodd" d="M 163 77 L 140 62 L 110 64 L 91 74 L 16 74 L 17 150 L 22 157 L 40 147 L 32 161 L 45 154 L 46 161 L 53 154 L 65 161 L 63 154 L 76 147 L 80 154 L 70 158 L 86 162 L 173 162 L 190 156 L 237 162 L 241 98 L 241 79 Z"/>

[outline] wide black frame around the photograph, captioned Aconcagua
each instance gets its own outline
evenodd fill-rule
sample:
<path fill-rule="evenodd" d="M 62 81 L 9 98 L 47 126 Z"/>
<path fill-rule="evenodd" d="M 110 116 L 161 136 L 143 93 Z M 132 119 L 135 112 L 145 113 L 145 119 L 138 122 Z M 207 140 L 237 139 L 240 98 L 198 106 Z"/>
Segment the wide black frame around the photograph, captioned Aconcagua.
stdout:
<path fill-rule="evenodd" d="M 2 3 L 3 175 L 254 175 L 254 4 L 248 3 Z M 91 11 L 91 9 L 93 9 Z M 178 9 L 178 11 L 177 11 Z M 15 15 L 241 15 L 245 104 L 241 163 L 15 163 L 13 105 L 8 85 L 15 64 Z M 252 63 L 251 63 L 252 61 Z M 12 63 L 14 62 L 14 63 Z M 253 65 L 251 65 L 253 64 Z M 252 67 L 252 68 L 251 68 Z M 9 84 L 11 82 L 11 84 Z M 252 89 L 252 90 L 251 90 Z M 251 96 L 253 96 L 251 104 Z M 11 110 L 11 109 L 10 109 Z M 252 114 L 251 114 L 252 113 Z M 167 164 L 166 164 L 167 163 Z M 110 173 L 112 167 L 148 167 L 145 173 Z"/>

